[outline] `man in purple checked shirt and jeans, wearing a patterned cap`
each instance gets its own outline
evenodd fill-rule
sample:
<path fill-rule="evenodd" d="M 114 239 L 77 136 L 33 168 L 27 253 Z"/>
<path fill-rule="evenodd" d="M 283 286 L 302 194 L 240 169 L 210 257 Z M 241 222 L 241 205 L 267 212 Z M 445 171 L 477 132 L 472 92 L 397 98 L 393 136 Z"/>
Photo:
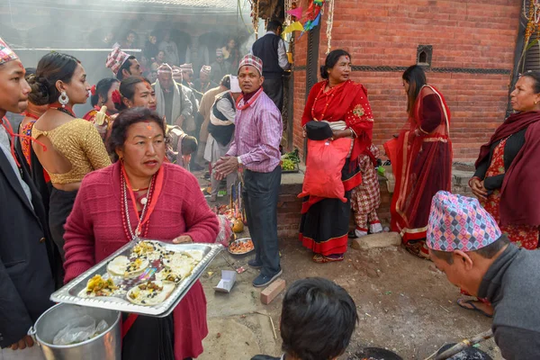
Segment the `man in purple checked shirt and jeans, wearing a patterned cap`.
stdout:
<path fill-rule="evenodd" d="M 238 99 L 234 138 L 225 157 L 213 172 L 218 180 L 238 170 L 244 174 L 247 226 L 255 245 L 255 259 L 249 266 L 260 268 L 256 287 L 272 283 L 282 269 L 277 243 L 277 196 L 281 183 L 279 143 L 283 124 L 281 112 L 263 91 L 263 62 L 246 55 L 238 67 L 242 95 Z"/>

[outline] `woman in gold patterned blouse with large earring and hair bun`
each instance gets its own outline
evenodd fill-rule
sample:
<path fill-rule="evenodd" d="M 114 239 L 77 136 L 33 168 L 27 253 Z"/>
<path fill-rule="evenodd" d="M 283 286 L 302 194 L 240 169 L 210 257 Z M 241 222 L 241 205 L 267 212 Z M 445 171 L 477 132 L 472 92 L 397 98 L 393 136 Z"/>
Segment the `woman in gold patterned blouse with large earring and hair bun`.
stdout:
<path fill-rule="evenodd" d="M 64 224 L 86 174 L 111 164 L 111 159 L 94 125 L 78 119 L 77 103 L 86 103 L 90 86 L 85 68 L 76 58 L 52 52 L 40 59 L 35 76 L 29 78 L 32 103 L 49 105 L 34 124 L 31 135 L 45 145 L 32 149 L 47 170 L 52 183 L 49 227 L 64 258 Z"/>

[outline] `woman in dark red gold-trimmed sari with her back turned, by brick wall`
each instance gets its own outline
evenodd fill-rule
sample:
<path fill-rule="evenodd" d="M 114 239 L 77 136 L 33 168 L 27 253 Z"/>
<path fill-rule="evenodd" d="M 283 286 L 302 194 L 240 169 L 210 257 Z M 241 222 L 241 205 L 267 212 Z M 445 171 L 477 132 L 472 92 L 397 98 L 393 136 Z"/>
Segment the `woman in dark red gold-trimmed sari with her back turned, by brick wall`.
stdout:
<path fill-rule="evenodd" d="M 391 157 L 396 179 L 392 231 L 401 234 L 412 254 L 428 258 L 425 240 L 431 199 L 440 190 L 450 191 L 452 185 L 450 111 L 443 95 L 427 85 L 422 67 L 409 67 L 402 78 L 409 120 Z"/>

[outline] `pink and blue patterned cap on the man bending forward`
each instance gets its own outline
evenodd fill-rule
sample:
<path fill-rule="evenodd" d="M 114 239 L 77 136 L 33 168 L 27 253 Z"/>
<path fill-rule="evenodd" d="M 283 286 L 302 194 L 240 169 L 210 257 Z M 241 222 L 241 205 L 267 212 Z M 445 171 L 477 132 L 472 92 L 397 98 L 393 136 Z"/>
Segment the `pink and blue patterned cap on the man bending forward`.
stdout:
<path fill-rule="evenodd" d="M 426 245 L 438 251 L 474 251 L 501 237 L 497 222 L 477 199 L 439 191 L 431 202 Z"/>

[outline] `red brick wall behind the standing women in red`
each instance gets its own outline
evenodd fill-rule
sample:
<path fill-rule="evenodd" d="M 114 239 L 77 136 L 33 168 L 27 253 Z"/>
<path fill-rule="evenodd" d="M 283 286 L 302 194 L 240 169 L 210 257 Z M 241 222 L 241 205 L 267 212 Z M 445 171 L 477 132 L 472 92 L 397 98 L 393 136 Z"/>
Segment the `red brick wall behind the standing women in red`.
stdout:
<path fill-rule="evenodd" d="M 307 0 L 302 7 L 306 8 Z M 347 49 L 356 66 L 408 67 L 420 44 L 433 46 L 431 67 L 502 69 L 506 74 L 428 72 L 428 82 L 446 97 L 452 112 L 456 160 L 472 160 L 503 121 L 514 64 L 520 2 L 515 0 L 335 0 L 332 49 Z M 320 29 L 320 58 L 327 50 L 327 17 Z M 298 35 L 297 35 L 298 37 Z M 296 39 L 294 65 L 306 65 L 307 34 Z M 305 69 L 294 72 L 294 146 L 305 98 Z M 374 143 L 397 133 L 407 118 L 401 71 L 354 71 L 374 111 Z"/>

